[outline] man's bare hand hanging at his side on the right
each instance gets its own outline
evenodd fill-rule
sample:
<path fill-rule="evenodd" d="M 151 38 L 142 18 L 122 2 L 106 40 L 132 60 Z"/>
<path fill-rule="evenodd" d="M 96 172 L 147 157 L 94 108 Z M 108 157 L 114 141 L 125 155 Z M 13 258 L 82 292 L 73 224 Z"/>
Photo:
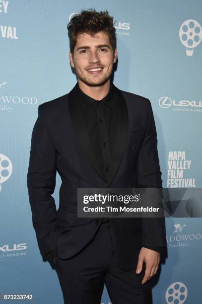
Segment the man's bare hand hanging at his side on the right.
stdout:
<path fill-rule="evenodd" d="M 141 284 L 146 283 L 152 276 L 156 274 L 160 262 L 160 253 L 145 247 L 141 247 L 136 267 L 137 274 L 142 271 L 143 262 L 146 264 L 146 269 Z"/>

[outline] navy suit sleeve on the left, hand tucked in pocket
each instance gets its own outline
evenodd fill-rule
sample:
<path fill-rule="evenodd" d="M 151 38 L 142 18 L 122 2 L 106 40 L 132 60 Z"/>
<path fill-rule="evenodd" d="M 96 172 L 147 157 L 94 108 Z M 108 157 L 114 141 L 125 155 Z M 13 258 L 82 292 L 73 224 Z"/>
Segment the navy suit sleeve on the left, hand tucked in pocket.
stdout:
<path fill-rule="evenodd" d="M 39 105 L 27 173 L 32 223 L 41 255 L 57 247 L 57 210 L 52 197 L 56 185 L 56 150 L 47 129 L 43 107 Z"/>

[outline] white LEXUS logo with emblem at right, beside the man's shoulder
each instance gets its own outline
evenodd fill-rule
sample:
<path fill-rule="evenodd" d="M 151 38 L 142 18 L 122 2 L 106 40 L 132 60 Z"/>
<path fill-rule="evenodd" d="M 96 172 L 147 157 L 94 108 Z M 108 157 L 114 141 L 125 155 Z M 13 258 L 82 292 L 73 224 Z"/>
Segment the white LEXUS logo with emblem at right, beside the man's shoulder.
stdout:
<path fill-rule="evenodd" d="M 180 106 L 180 107 L 192 107 L 192 108 L 201 108 L 202 107 L 202 101 L 196 101 L 196 100 L 180 100 L 178 103 L 173 99 L 171 99 L 168 96 L 163 96 L 159 99 L 158 104 L 161 108 L 169 108 L 171 105 L 173 106 Z"/>

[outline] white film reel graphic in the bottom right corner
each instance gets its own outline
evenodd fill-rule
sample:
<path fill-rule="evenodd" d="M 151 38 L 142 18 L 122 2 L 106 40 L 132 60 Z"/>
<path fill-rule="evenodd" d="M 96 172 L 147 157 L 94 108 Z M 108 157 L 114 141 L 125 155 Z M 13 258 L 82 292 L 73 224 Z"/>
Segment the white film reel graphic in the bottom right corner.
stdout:
<path fill-rule="evenodd" d="M 187 299 L 187 287 L 182 282 L 171 284 L 166 291 L 167 304 L 183 304 Z"/>

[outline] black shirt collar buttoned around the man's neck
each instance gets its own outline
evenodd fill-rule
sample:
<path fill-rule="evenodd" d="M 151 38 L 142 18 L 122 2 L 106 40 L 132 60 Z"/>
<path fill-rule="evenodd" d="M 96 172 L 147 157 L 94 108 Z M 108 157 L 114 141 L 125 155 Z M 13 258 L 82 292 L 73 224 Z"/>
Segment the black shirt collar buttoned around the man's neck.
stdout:
<path fill-rule="evenodd" d="M 112 84 L 112 82 L 110 82 L 109 92 L 101 100 L 96 100 L 96 99 L 88 96 L 87 94 L 85 94 L 80 89 L 80 87 L 78 85 L 78 82 L 76 83 L 76 87 L 77 87 L 77 93 L 79 94 L 79 97 L 80 97 L 79 100 L 81 102 L 83 110 L 86 110 L 89 107 L 97 106 L 98 104 L 103 104 L 103 105 L 109 106 L 111 108 L 114 107 L 114 98 L 113 98 L 113 96 L 114 96 L 114 90 L 113 90 L 113 84 Z"/>

